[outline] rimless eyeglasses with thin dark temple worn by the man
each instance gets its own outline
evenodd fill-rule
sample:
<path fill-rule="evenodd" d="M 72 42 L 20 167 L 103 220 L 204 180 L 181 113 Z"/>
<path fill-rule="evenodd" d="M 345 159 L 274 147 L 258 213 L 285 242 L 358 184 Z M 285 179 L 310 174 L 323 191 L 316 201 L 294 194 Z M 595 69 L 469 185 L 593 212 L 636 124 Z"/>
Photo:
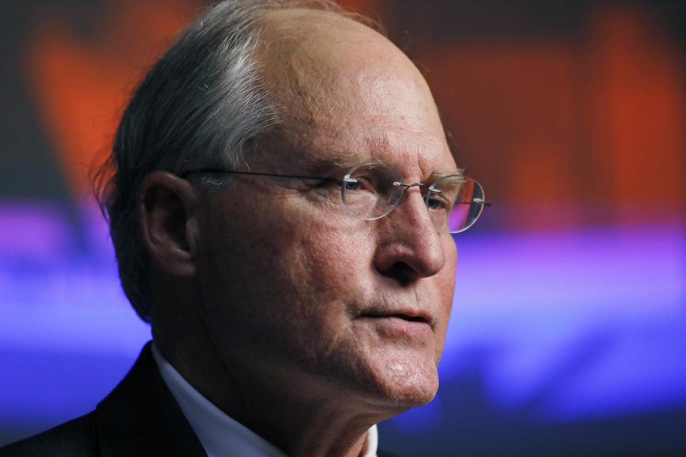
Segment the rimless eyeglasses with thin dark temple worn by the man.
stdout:
<path fill-rule="evenodd" d="M 484 189 L 472 178 L 459 174 L 442 176 L 433 184 L 405 184 L 402 173 L 390 164 L 367 162 L 359 164 L 345 174 L 343 179 L 321 176 L 299 176 L 252 171 L 227 171 L 222 169 L 197 169 L 180 174 L 221 173 L 272 176 L 277 178 L 313 179 L 336 183 L 341 187 L 343 204 L 352 216 L 374 221 L 387 216 L 402 201 L 405 192 L 419 187 L 424 204 L 434 225 L 442 231 L 459 233 L 469 229 L 479 219 L 484 206 Z"/>

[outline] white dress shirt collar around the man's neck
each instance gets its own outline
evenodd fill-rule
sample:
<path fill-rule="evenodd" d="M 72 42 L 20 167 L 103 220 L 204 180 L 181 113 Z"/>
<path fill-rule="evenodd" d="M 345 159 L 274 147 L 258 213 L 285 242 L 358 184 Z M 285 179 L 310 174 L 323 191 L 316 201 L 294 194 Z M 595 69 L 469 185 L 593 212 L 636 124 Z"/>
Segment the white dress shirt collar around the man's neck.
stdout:
<path fill-rule="evenodd" d="M 172 391 L 181 411 L 191 424 L 208 457 L 251 456 L 286 457 L 279 448 L 269 443 L 241 423 L 227 416 L 214 403 L 202 396 L 152 343 L 152 356 L 164 383 Z M 366 449 L 362 457 L 377 457 L 379 438 L 377 426 L 367 431 Z"/>

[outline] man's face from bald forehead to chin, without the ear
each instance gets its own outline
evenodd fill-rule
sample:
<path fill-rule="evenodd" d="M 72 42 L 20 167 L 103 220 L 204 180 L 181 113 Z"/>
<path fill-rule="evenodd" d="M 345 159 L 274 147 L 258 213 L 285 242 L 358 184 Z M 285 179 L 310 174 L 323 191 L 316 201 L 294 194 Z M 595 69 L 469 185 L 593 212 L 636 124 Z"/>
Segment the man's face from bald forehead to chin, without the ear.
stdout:
<path fill-rule="evenodd" d="M 382 161 L 407 183 L 454 172 L 409 60 L 352 21 L 298 14 L 272 18 L 263 38 L 263 71 L 286 116 L 245 170 L 342 178 L 354 164 Z M 199 235 L 204 321 L 223 362 L 293 396 L 394 408 L 429 401 L 457 253 L 419 188 L 388 216 L 364 221 L 344 208 L 338 184 L 233 179 L 207 192 Z"/>

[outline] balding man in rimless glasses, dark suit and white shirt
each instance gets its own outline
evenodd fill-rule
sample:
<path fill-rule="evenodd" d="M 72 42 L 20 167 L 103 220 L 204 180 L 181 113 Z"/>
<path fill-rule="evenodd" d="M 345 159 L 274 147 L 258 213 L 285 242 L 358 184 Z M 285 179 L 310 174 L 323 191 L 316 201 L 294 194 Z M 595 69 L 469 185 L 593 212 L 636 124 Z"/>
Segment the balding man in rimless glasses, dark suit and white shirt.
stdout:
<path fill-rule="evenodd" d="M 154 342 L 94 412 L 1 456 L 374 456 L 374 424 L 433 398 L 450 232 L 483 195 L 377 31 L 225 1 L 146 76 L 111 164 L 121 282 Z"/>

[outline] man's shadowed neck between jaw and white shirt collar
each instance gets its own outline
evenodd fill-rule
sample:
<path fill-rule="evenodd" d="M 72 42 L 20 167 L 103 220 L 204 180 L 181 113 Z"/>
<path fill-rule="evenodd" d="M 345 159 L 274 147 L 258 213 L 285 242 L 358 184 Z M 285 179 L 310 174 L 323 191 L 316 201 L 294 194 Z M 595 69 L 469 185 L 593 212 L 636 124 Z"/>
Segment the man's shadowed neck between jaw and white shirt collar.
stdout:
<path fill-rule="evenodd" d="M 360 456 L 369 428 L 390 416 L 373 411 L 368 402 L 355 401 L 354 393 L 341 388 L 329 386 L 322 392 L 311 380 L 287 379 L 282 373 L 250 376 L 249 367 L 229 370 L 209 356 L 211 350 L 172 349 L 157 336 L 155 341 L 167 361 L 205 398 L 289 456 Z"/>

